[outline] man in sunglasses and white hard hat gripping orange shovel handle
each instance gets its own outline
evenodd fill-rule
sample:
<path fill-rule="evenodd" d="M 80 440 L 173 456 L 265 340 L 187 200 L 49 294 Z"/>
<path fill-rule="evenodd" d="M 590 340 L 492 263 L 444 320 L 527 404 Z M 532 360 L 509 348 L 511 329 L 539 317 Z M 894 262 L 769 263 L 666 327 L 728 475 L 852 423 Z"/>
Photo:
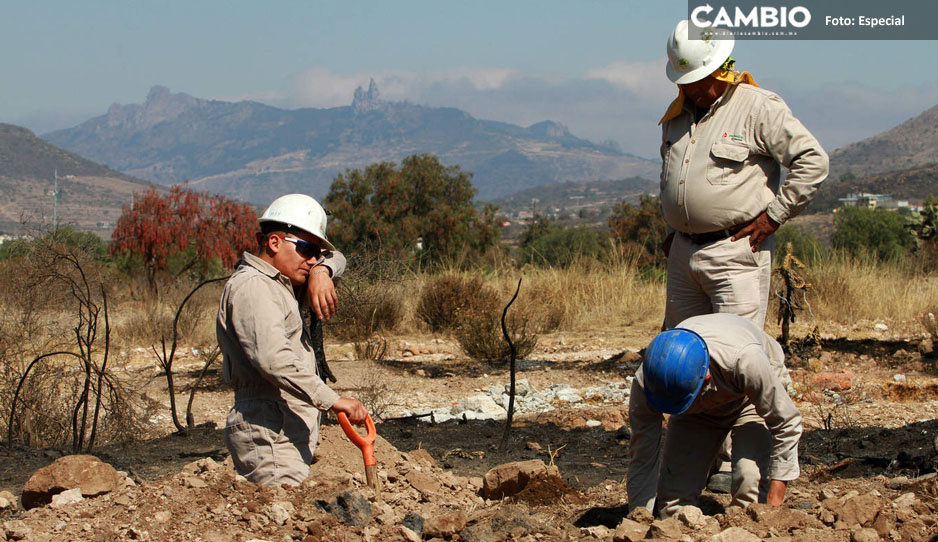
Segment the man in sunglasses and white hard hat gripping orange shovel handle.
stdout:
<path fill-rule="evenodd" d="M 320 379 L 299 293 L 320 318 L 335 310 L 332 277 L 345 257 L 326 239 L 326 213 L 304 194 L 274 200 L 258 219 L 257 254 L 245 252 L 225 284 L 215 331 L 235 403 L 225 444 L 235 469 L 267 486 L 309 475 L 322 411 L 361 424 L 367 412 Z M 307 288 L 304 291 L 304 287 Z"/>

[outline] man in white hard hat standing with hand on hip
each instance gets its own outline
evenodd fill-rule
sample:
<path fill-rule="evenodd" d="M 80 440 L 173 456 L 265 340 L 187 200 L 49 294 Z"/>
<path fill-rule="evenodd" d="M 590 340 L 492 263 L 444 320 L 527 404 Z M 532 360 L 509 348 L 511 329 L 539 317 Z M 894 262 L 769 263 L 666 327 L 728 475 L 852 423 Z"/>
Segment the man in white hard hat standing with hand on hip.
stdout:
<path fill-rule="evenodd" d="M 664 327 L 728 312 L 761 328 L 773 234 L 811 201 L 828 157 L 777 94 L 734 69 L 732 35 L 696 32 L 681 21 L 667 46 L 678 97 L 660 122 L 661 208 L 670 230 Z M 714 464 L 714 491 L 726 491 L 730 447 Z"/>

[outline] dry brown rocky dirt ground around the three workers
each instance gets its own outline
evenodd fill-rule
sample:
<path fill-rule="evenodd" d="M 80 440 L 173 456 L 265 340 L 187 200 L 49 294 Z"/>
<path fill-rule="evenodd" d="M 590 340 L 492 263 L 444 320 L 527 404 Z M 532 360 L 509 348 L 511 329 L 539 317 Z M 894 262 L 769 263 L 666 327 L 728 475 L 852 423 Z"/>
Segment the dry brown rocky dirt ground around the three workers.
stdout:
<path fill-rule="evenodd" d="M 519 364 L 518 377 L 535 389 L 624 380 L 635 364 L 621 354 L 639 350 L 654 334 L 625 331 L 546 337 L 532 361 Z M 390 403 L 387 418 L 452 404 L 508 381 L 507 366 L 462 360 L 448 340 L 398 337 L 390 344 L 390 361 L 379 363 L 348 359 L 348 344 L 327 346 L 337 391 L 378 390 Z M 709 540 L 722 531 L 723 539 L 744 540 L 742 529 L 779 540 L 938 540 L 935 363 L 920 338 L 875 332 L 796 348 L 788 364 L 805 435 L 802 476 L 789 485 L 786 508 L 741 510 L 729 506 L 726 495 L 705 492 L 702 518 L 651 523 L 634 516 L 645 529 L 641 536 Z M 191 355 L 176 368 L 185 384 L 200 367 Z M 130 370 L 152 379 L 154 397 L 166 402 L 165 383 L 149 361 L 141 358 Z M 196 396 L 195 419 L 202 425 L 189 435 L 171 435 L 164 412 L 153 419 L 155 438 L 95 450 L 136 486 L 58 509 L 8 514 L 6 534 L 27 540 L 406 540 L 413 533 L 401 526 L 422 518 L 427 539 L 613 540 L 627 510 L 626 405 L 557 405 L 519 417 L 504 444 L 503 421 L 386 420 L 378 424 L 384 487 L 377 496 L 364 487 L 358 450 L 328 425 L 307 483 L 266 489 L 234 476 L 219 429 L 231 392 L 211 385 L 213 377 Z M 587 420 L 601 425 L 588 427 Z M 0 456 L 0 490 L 19 496 L 29 475 L 62 453 L 7 450 Z M 541 480 L 514 499 L 479 496 L 488 469 L 527 459 L 553 461 L 563 479 Z M 621 538 L 624 531 L 618 536 L 631 539 Z"/>

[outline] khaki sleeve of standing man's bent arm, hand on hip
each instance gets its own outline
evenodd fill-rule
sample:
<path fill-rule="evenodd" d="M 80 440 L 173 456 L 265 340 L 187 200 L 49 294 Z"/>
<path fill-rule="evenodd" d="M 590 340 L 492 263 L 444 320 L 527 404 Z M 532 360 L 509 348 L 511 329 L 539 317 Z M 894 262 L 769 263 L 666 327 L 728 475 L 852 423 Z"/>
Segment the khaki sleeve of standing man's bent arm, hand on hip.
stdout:
<path fill-rule="evenodd" d="M 798 215 L 827 178 L 829 158 L 818 140 L 778 96 L 765 100 L 756 117 L 755 144 L 788 168 L 788 177 L 766 213 L 779 224 Z"/>

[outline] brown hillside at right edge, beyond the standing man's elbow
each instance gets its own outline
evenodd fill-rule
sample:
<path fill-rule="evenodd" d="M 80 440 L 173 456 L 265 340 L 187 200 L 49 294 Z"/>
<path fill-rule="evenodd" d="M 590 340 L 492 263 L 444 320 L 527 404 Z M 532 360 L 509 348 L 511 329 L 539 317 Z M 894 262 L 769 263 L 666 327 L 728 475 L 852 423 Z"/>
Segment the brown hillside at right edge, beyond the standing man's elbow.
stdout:
<path fill-rule="evenodd" d="M 938 105 L 902 124 L 831 152 L 831 179 L 868 177 L 938 162 Z"/>

